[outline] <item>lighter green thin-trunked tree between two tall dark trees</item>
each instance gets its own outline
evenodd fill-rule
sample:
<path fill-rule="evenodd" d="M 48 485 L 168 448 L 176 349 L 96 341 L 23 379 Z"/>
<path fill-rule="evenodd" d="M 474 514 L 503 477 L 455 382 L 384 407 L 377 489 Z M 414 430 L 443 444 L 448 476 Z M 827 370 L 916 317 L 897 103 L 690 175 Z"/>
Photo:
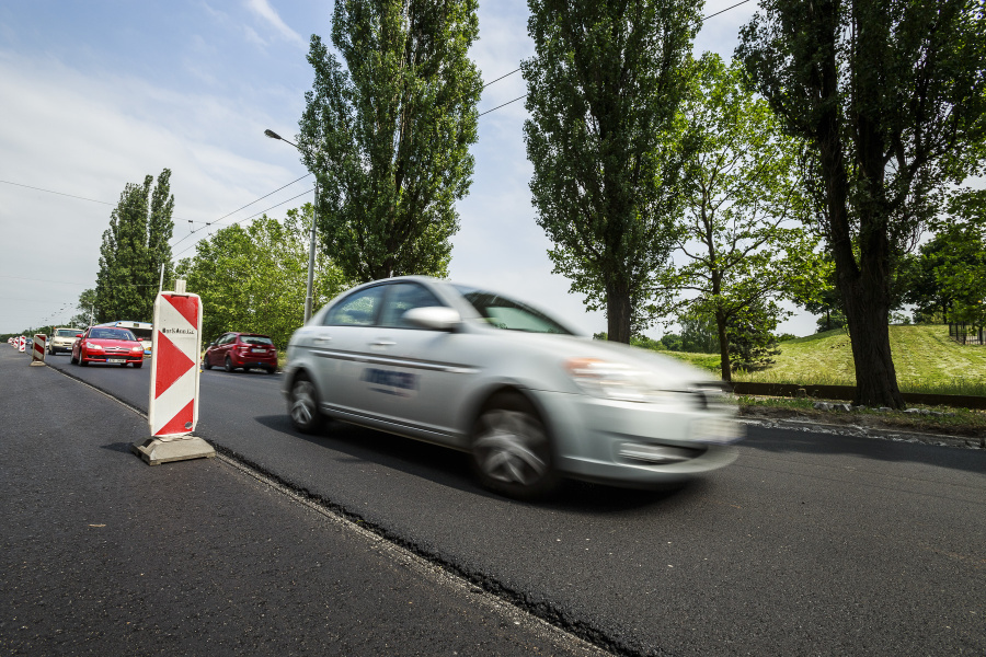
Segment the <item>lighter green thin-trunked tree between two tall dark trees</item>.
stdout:
<path fill-rule="evenodd" d="M 783 312 L 777 300 L 813 285 L 817 240 L 798 222 L 811 210 L 798 145 L 744 87 L 738 65 L 703 56 L 683 110 L 683 135 L 695 145 L 678 245 L 683 265 L 665 273 L 664 286 L 696 292 L 686 304 L 714 320 L 729 381 L 731 362 L 752 367 L 758 360 L 753 354 L 764 351 L 760 343 L 772 339 Z M 731 326 L 747 335 L 731 337 Z M 732 353 L 736 345 L 742 356 Z"/>

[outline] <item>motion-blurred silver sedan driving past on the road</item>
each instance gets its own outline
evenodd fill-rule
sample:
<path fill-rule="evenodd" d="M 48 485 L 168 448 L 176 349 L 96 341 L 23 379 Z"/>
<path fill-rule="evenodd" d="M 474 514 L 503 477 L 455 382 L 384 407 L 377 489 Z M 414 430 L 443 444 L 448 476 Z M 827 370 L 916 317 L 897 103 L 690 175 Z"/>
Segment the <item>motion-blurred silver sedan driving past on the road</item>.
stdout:
<path fill-rule="evenodd" d="M 329 416 L 460 449 L 512 497 L 561 476 L 678 482 L 731 463 L 743 436 L 721 383 L 700 370 L 427 277 L 336 297 L 291 336 L 284 373 L 297 429 Z"/>

